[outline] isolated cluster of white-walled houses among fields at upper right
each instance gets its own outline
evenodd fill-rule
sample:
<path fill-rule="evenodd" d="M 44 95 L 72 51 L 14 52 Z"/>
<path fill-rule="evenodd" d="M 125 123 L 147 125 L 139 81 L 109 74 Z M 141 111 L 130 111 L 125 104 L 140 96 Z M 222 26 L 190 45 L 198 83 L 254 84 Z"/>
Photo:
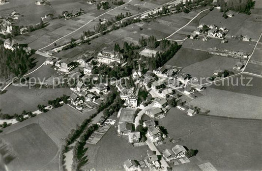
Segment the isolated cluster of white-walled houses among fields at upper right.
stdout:
<path fill-rule="evenodd" d="M 204 35 L 203 41 L 208 40 L 208 37 L 224 39 L 228 33 L 226 27 L 217 27 L 215 25 L 201 24 L 199 27 L 190 35 L 191 39 L 195 39 L 198 35 Z"/>

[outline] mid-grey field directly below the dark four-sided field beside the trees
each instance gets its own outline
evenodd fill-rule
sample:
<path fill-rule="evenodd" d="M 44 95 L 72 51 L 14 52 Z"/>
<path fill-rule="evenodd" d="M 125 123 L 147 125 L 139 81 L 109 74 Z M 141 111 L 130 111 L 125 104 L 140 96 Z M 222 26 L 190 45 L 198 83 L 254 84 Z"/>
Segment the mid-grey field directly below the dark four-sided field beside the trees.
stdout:
<path fill-rule="evenodd" d="M 209 56 L 208 54 L 205 55 Z M 182 72 L 189 73 L 191 74 L 192 77 L 197 77 L 198 79 L 209 78 L 213 76 L 213 72 L 218 69 L 221 70 L 227 69 L 229 71 L 233 71 L 233 66 L 239 60 L 240 59 L 211 55 L 211 57 L 203 61 L 196 62 L 184 67 L 182 69 Z M 236 73 L 236 71 L 233 72 Z M 205 79 L 202 82 L 204 83 Z"/>

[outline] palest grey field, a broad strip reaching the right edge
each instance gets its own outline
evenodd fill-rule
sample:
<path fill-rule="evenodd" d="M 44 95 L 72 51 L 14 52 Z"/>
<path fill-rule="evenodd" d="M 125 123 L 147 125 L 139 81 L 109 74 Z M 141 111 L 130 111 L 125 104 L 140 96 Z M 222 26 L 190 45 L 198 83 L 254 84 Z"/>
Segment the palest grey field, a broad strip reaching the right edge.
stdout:
<path fill-rule="evenodd" d="M 259 91 L 259 90 L 258 90 Z M 207 87 L 204 96 L 192 100 L 188 105 L 197 106 L 209 115 L 262 119 L 261 97 Z"/>

